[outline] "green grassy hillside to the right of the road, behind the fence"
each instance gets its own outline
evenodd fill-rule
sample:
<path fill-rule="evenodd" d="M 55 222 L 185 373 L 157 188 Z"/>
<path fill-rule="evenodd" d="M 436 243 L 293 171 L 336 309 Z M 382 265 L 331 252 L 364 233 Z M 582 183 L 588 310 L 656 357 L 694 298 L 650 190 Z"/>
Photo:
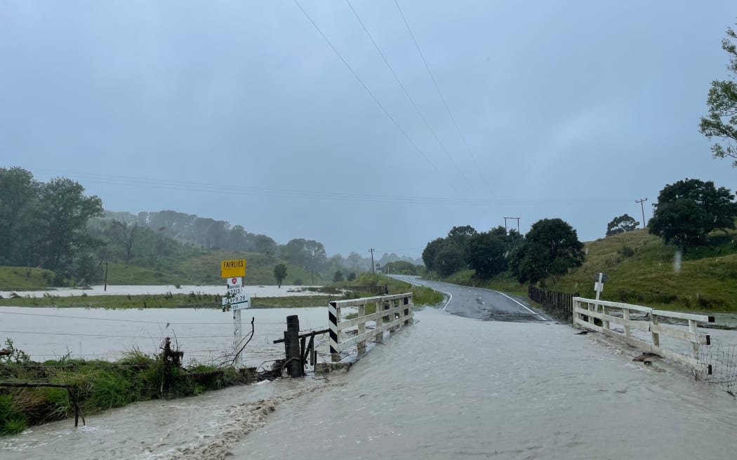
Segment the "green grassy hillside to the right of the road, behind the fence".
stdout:
<path fill-rule="evenodd" d="M 548 289 L 593 298 L 594 273 L 604 272 L 609 276 L 601 294 L 604 300 L 668 310 L 737 311 L 736 243 L 734 232 L 713 233 L 708 246 L 680 254 L 647 230 L 601 238 L 585 243 L 583 266 L 548 280 Z M 516 294 L 527 291 L 509 273 L 481 282 L 474 280 L 472 270 L 465 270 L 445 280 Z"/>

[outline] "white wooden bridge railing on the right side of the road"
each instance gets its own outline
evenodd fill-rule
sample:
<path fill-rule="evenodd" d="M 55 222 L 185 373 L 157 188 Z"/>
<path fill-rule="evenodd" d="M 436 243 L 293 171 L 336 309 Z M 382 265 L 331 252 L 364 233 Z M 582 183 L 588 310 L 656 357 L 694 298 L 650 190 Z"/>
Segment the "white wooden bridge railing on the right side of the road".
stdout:
<path fill-rule="evenodd" d="M 630 319 L 632 312 L 648 316 L 640 320 L 633 320 Z M 679 328 L 677 325 L 660 324 L 660 318 L 685 319 L 688 321 L 688 330 Z M 601 321 L 601 325 L 595 325 L 594 319 Z M 610 327 L 612 322 L 621 325 L 624 332 L 612 330 Z M 711 374 L 711 366 L 699 359 L 699 347 L 711 344 L 710 336 L 698 331 L 699 322 L 714 322 L 714 317 L 677 311 L 654 310 L 653 308 L 629 303 L 573 297 L 573 325 L 615 337 L 632 345 L 632 347 L 685 364 L 696 372 Z M 633 329 L 643 331 L 645 334 L 635 333 L 633 335 Z M 670 350 L 661 345 L 661 335 L 689 342 L 691 344 L 689 355 Z"/>

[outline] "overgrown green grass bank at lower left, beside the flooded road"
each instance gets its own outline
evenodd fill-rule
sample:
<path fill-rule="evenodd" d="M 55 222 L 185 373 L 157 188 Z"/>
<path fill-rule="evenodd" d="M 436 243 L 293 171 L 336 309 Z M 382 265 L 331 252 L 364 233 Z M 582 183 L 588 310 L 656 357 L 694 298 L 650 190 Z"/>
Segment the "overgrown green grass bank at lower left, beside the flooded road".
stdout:
<path fill-rule="evenodd" d="M 165 363 L 160 355 L 130 350 L 116 362 L 0 359 L 0 380 L 71 384 L 79 394 L 83 414 L 89 416 L 135 401 L 200 394 L 243 383 L 244 378 L 232 368 L 206 364 L 181 368 Z M 0 436 L 63 420 L 73 413 L 66 389 L 0 387 Z"/>

